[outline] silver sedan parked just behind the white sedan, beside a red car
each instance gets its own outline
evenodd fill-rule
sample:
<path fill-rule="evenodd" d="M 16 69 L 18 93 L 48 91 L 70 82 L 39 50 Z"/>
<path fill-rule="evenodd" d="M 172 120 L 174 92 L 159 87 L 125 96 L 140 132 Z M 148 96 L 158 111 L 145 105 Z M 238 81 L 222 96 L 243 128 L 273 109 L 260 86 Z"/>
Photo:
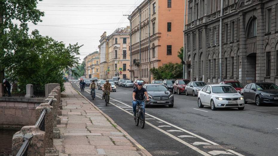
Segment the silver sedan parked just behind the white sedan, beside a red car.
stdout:
<path fill-rule="evenodd" d="M 185 87 L 185 95 L 192 94 L 193 96 L 198 96 L 198 92 L 207 85 L 203 81 L 191 81 Z"/>

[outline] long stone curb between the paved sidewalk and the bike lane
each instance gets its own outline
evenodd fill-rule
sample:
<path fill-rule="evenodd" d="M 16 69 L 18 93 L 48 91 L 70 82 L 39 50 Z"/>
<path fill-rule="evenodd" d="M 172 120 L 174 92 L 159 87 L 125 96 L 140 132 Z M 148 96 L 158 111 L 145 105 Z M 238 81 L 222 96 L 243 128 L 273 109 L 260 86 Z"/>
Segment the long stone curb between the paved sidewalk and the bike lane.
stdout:
<path fill-rule="evenodd" d="M 71 83 L 70 83 L 71 84 Z M 96 108 L 98 111 L 100 111 L 100 113 L 105 116 L 107 119 L 109 119 L 109 121 L 113 124 L 113 125 L 117 125 L 113 119 L 111 119 L 107 114 L 105 114 L 103 111 L 100 110 L 100 108 L 98 108 L 96 105 L 94 105 L 94 103 L 92 103 L 90 100 L 88 100 L 84 95 L 82 95 L 79 91 L 77 91 L 72 85 L 71 88 L 74 89 L 76 92 L 78 92 L 84 99 L 86 99 L 89 103 L 91 103 L 91 105 Z M 131 142 L 133 142 L 138 149 L 140 150 L 139 152 L 142 152 L 142 154 L 146 155 L 146 156 L 152 156 L 143 146 L 141 146 L 136 140 L 134 140 L 125 130 L 123 130 L 119 125 L 117 125 L 116 129 L 120 130 L 124 135 L 126 135 L 127 138 L 129 138 L 129 140 Z"/>

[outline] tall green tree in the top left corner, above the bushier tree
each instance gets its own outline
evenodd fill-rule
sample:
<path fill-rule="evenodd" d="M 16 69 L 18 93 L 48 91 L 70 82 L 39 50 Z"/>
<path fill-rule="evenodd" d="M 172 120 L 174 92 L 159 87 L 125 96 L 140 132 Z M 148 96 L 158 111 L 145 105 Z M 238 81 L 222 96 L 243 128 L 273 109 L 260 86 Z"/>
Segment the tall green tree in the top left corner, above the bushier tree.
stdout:
<path fill-rule="evenodd" d="M 18 45 L 12 45 L 18 40 L 16 34 L 28 31 L 27 23 L 41 22 L 44 12 L 36 9 L 38 1 L 42 0 L 0 0 L 0 80 L 4 79 L 7 57 L 16 51 Z M 16 23 L 17 22 L 17 23 Z M 19 22 L 19 23 L 18 23 Z M 11 36 L 15 38 L 11 38 Z"/>

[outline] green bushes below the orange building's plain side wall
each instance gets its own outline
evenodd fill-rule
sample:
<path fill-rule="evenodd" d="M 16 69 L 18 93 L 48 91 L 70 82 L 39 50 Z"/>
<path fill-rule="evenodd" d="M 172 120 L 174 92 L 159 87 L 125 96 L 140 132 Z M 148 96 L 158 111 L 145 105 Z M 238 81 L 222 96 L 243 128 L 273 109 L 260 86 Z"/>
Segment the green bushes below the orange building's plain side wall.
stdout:
<path fill-rule="evenodd" d="M 179 63 L 168 63 L 158 68 L 150 69 L 154 79 L 171 79 L 171 78 L 182 78 L 182 64 Z"/>

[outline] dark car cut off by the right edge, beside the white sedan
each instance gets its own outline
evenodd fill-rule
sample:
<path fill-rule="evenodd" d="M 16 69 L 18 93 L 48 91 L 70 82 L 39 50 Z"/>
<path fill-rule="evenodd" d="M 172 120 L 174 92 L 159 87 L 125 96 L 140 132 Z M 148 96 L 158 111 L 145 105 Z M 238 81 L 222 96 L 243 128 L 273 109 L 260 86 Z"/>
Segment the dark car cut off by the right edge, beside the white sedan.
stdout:
<path fill-rule="evenodd" d="M 255 102 L 260 106 L 263 103 L 278 103 L 278 86 L 269 82 L 249 83 L 241 90 L 245 104 Z"/>

